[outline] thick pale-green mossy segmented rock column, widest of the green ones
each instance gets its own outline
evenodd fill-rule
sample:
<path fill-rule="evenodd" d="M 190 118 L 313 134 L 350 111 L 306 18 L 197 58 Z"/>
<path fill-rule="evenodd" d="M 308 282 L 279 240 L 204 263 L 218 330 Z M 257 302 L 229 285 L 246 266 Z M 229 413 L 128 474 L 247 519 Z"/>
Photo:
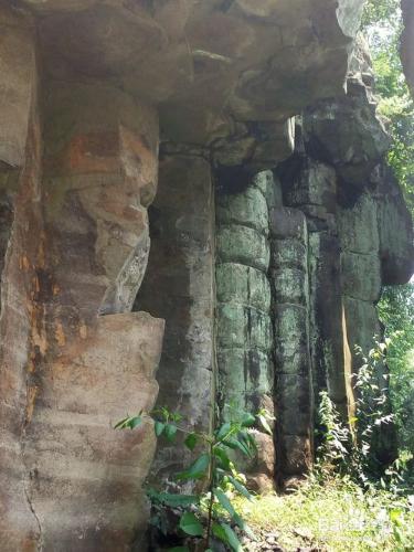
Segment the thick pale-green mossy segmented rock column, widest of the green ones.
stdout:
<path fill-rule="evenodd" d="M 216 348 L 223 418 L 231 410 L 273 412 L 273 330 L 267 188 L 259 173 L 236 193 L 216 192 Z M 251 467 L 257 487 L 272 488 L 273 437 L 257 432 L 259 454 Z"/>

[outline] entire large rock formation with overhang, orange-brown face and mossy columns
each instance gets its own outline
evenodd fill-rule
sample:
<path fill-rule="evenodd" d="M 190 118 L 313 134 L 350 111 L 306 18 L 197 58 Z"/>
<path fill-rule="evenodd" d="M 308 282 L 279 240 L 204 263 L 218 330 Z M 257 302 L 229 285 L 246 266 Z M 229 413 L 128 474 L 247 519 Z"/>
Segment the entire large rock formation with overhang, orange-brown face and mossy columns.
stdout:
<path fill-rule="evenodd" d="M 320 389 L 346 415 L 412 273 L 362 4 L 1 4 L 2 551 L 145 550 L 152 427 L 112 427 L 158 384 L 199 428 L 275 412 L 258 488 L 311 464 Z"/>

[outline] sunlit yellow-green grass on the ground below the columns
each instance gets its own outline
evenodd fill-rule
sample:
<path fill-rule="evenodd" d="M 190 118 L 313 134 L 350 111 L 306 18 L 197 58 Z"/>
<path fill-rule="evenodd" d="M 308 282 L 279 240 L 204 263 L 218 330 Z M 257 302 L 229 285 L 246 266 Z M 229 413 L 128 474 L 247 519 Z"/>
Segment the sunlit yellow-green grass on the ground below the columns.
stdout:
<path fill-rule="evenodd" d="M 287 551 L 299 546 L 332 552 L 414 550 L 414 497 L 363 492 L 354 484 L 309 480 L 290 495 L 237 499 L 240 513 L 254 530 L 276 531 Z"/>

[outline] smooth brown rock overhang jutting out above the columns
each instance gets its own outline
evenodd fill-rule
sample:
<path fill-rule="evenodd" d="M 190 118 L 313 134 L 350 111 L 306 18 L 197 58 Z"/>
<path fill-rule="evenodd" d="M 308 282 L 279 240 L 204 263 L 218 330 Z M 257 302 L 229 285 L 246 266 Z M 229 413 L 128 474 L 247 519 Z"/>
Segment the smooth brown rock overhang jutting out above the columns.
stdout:
<path fill-rule="evenodd" d="M 161 138 L 174 141 L 255 140 L 248 127 L 278 125 L 273 128 L 277 159 L 286 157 L 286 148 L 291 151 L 287 120 L 343 91 L 363 0 L 24 0 L 23 6 L 35 15 L 46 79 L 104 78 L 156 105 Z M 251 150 L 244 161 L 257 168 L 274 164 L 250 156 Z M 222 156 L 220 163 L 234 159 Z"/>

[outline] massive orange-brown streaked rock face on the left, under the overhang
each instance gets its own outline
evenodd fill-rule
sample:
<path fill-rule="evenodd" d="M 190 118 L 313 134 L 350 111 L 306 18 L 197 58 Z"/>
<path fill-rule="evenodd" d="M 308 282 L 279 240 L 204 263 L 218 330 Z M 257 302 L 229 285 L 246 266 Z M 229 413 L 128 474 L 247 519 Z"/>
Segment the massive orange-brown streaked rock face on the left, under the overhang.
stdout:
<path fill-rule="evenodd" d="M 0 548 L 129 550 L 155 437 L 113 425 L 158 393 L 163 321 L 130 312 L 158 116 L 107 84 L 39 82 L 33 20 L 4 18 L 20 63 L 1 104 L 17 115 L 1 139 Z"/>

